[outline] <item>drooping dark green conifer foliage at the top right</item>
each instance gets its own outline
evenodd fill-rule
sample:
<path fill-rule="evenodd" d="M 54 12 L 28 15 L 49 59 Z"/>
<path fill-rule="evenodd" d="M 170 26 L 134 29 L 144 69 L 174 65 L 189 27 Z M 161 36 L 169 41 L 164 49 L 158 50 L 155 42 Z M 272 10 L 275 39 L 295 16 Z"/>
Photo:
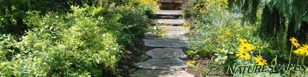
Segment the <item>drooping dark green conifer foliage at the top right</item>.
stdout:
<path fill-rule="evenodd" d="M 238 6 L 244 14 L 244 20 L 250 23 L 259 21 L 256 12 L 257 9 L 261 9 L 261 25 L 258 26 L 257 34 L 262 39 L 275 40 L 282 36 L 286 39 L 298 37 L 302 43 L 307 39 L 307 0 L 228 0 L 228 6 Z M 286 45 L 290 45 L 290 42 L 287 41 Z"/>

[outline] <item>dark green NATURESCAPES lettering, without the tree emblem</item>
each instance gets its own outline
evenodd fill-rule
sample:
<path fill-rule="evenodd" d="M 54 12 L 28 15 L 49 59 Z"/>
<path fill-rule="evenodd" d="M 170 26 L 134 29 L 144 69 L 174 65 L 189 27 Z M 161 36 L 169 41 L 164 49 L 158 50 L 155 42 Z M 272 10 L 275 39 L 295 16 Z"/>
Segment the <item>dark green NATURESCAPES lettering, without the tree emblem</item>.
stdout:
<path fill-rule="evenodd" d="M 260 73 L 260 72 L 276 72 L 276 71 L 299 71 L 304 72 L 305 65 L 299 64 L 270 64 L 270 65 L 257 65 L 257 66 L 228 66 L 226 73 L 231 74 L 245 74 L 245 73 Z"/>

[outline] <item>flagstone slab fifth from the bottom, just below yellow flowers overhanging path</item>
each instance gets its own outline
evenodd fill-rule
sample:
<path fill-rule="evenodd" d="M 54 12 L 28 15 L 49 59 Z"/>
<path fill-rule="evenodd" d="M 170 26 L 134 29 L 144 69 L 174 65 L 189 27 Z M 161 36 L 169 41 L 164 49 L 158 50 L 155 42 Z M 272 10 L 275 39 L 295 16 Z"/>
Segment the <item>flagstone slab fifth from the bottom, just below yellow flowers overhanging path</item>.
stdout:
<path fill-rule="evenodd" d="M 184 36 L 178 36 L 178 35 L 170 35 L 170 34 L 164 34 L 164 37 L 157 37 L 155 34 L 147 33 L 145 34 L 146 39 L 167 39 L 167 40 L 187 40 Z"/>

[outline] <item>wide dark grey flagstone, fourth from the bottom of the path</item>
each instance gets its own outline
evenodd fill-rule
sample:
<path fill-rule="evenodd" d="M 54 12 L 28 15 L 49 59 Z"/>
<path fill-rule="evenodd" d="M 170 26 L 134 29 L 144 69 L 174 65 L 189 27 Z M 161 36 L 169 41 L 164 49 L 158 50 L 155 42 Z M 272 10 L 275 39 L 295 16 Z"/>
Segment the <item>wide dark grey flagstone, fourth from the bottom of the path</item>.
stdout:
<path fill-rule="evenodd" d="M 157 40 L 157 39 L 143 39 L 145 46 L 150 47 L 186 47 L 187 41 L 179 40 Z"/>

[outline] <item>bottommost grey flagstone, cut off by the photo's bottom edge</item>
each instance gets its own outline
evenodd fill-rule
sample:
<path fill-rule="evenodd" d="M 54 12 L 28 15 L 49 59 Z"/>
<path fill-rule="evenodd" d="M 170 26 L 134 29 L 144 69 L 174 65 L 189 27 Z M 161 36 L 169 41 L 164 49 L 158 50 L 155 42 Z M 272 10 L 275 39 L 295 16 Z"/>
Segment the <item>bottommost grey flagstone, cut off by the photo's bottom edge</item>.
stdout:
<path fill-rule="evenodd" d="M 188 74 L 186 71 L 161 71 L 161 70 L 138 70 L 130 74 L 134 77 L 136 74 L 142 77 L 194 77 L 194 75 Z"/>

